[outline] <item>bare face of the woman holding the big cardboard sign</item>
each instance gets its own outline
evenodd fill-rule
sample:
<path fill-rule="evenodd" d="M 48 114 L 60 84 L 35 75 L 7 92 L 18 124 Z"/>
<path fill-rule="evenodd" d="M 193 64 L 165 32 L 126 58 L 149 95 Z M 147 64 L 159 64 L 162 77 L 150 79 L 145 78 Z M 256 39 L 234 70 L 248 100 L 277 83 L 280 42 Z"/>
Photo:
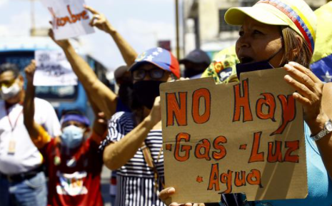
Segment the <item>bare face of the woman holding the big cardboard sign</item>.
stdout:
<path fill-rule="evenodd" d="M 265 61 L 282 48 L 282 37 L 279 26 L 262 24 L 247 17 L 239 31 L 236 41 L 236 55 L 241 63 Z M 273 67 L 281 66 L 283 51 L 274 56 Z"/>

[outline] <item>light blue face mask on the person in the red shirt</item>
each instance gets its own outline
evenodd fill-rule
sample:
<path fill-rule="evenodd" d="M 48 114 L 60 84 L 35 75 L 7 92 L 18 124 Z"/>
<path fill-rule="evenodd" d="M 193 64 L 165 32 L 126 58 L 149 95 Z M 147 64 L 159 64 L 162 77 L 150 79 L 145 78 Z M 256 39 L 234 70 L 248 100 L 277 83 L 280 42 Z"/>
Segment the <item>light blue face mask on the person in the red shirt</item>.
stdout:
<path fill-rule="evenodd" d="M 61 143 L 69 149 L 77 148 L 81 145 L 83 136 L 84 129 L 69 125 L 62 130 Z"/>

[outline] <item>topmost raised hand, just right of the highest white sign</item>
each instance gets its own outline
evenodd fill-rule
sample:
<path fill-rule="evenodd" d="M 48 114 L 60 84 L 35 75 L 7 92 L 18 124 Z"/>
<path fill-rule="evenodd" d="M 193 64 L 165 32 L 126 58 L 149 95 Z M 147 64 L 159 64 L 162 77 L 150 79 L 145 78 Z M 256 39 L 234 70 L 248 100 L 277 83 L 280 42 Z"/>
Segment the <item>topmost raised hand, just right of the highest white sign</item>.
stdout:
<path fill-rule="evenodd" d="M 84 7 L 85 9 L 89 10 L 93 15 L 89 23 L 90 26 L 96 26 L 96 28 L 100 29 L 101 31 L 105 31 L 106 33 L 109 34 L 115 31 L 114 27 L 111 26 L 111 24 L 106 19 L 106 16 L 104 14 L 99 13 L 90 6 L 84 6 Z"/>

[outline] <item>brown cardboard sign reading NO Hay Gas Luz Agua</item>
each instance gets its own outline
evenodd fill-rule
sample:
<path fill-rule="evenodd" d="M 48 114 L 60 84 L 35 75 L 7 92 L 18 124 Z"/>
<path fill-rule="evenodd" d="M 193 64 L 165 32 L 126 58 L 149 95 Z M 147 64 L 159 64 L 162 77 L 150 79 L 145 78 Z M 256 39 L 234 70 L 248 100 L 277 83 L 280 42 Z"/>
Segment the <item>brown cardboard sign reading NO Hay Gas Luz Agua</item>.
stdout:
<path fill-rule="evenodd" d="M 170 202 L 219 202 L 308 194 L 303 111 L 281 68 L 161 85 L 166 187 Z"/>

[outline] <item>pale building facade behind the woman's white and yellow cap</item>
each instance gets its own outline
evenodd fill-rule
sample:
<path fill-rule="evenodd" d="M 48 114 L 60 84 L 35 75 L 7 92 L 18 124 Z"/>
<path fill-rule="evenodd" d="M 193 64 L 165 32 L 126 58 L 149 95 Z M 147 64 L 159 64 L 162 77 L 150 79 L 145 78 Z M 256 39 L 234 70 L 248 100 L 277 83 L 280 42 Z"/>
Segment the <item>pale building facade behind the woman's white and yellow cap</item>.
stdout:
<path fill-rule="evenodd" d="M 226 24 L 223 16 L 233 6 L 252 6 L 258 0 L 183 0 L 184 53 L 201 48 L 211 58 L 223 48 L 235 44 L 238 26 Z M 326 0 L 305 0 L 313 10 Z"/>

